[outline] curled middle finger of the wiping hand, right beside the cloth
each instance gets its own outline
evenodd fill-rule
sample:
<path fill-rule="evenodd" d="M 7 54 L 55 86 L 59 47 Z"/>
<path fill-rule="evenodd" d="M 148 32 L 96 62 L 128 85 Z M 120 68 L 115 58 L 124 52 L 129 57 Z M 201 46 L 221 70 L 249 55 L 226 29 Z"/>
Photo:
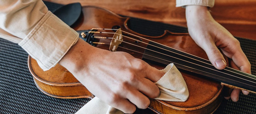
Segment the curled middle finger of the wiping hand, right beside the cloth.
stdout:
<path fill-rule="evenodd" d="M 146 78 L 143 78 L 136 87 L 141 93 L 149 98 L 156 98 L 160 93 L 159 87 L 154 82 Z"/>

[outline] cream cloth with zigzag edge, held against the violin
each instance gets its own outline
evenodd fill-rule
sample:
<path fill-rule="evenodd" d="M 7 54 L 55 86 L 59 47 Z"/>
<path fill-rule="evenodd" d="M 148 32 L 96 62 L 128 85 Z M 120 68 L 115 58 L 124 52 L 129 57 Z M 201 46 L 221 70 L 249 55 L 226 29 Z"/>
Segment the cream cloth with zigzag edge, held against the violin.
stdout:
<path fill-rule="evenodd" d="M 158 100 L 184 102 L 188 99 L 188 87 L 179 70 L 173 63 L 167 65 L 163 70 L 164 76 L 156 82 L 160 89 Z M 124 114 L 121 110 L 113 108 L 94 97 L 85 104 L 76 114 Z"/>

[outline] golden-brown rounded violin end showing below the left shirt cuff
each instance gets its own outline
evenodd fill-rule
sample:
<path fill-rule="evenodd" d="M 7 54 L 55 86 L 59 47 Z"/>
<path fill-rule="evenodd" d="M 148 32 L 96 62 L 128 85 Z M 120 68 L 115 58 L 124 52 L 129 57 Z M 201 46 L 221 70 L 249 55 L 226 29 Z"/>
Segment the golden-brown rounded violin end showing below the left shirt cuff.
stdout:
<path fill-rule="evenodd" d="M 28 57 L 28 68 L 32 74 L 36 86 L 44 94 L 56 98 L 93 98 L 84 85 L 68 72 L 68 70 L 57 64 L 51 70 L 43 71 L 36 60 Z M 60 72 L 61 71 L 61 72 Z"/>

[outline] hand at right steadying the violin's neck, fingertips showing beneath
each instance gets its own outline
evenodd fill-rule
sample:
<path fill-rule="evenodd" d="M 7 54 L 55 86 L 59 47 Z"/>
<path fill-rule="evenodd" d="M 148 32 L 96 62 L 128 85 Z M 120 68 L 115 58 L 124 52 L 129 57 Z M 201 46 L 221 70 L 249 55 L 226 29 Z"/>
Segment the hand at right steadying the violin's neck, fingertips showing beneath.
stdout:
<path fill-rule="evenodd" d="M 186 6 L 186 19 L 188 33 L 196 44 L 204 49 L 214 67 L 224 69 L 227 66 L 218 49 L 220 48 L 227 57 L 233 60 L 233 66 L 243 72 L 251 73 L 251 64 L 242 51 L 240 42 L 212 18 L 207 7 L 200 5 Z M 239 89 L 232 91 L 230 95 L 232 101 L 238 101 L 240 91 Z M 244 90 L 242 92 L 245 95 L 249 94 Z M 226 99 L 228 98 L 226 97 Z"/>

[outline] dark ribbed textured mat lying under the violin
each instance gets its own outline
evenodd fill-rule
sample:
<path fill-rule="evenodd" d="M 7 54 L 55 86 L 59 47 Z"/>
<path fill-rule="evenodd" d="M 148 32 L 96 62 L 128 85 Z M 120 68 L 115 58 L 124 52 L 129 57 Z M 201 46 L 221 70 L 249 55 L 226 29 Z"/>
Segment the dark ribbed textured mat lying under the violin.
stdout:
<path fill-rule="evenodd" d="M 61 4 L 44 2 L 50 11 Z M 145 26 L 146 25 L 146 26 Z M 129 27 L 141 34 L 158 36 L 163 30 L 187 32 L 187 28 L 132 18 Z M 143 28 L 143 29 L 142 29 Z M 142 31 L 143 30 L 143 31 Z M 160 32 L 159 32 L 160 31 Z M 256 41 L 237 38 L 256 74 Z M 44 95 L 34 84 L 27 66 L 28 54 L 18 45 L 0 38 L 0 113 L 1 114 L 72 114 L 89 99 L 58 99 Z M 256 113 L 256 95 L 240 95 L 239 101 L 223 100 L 215 113 Z M 150 110 L 138 110 L 152 113 Z"/>

